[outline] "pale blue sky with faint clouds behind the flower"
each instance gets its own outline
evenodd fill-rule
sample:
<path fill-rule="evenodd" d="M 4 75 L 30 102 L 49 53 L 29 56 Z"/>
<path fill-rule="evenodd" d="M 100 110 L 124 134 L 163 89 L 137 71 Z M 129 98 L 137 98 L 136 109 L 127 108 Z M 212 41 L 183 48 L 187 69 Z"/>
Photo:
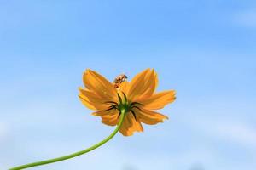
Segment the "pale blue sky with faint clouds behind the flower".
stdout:
<path fill-rule="evenodd" d="M 83 150 L 111 133 L 78 99 L 86 68 L 145 68 L 177 90 L 165 123 L 34 169 L 256 168 L 256 3 L 0 1 L 0 169 Z"/>

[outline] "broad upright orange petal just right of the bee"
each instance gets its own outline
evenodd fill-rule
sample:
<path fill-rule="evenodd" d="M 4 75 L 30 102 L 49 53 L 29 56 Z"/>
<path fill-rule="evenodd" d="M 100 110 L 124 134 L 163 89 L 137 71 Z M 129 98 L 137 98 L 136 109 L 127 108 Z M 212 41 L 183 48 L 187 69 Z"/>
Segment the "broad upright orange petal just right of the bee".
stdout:
<path fill-rule="evenodd" d="M 131 80 L 131 85 L 128 92 L 128 98 L 134 100 L 137 97 L 148 97 L 154 93 L 157 86 L 157 75 L 153 70 L 147 69 L 135 76 Z"/>

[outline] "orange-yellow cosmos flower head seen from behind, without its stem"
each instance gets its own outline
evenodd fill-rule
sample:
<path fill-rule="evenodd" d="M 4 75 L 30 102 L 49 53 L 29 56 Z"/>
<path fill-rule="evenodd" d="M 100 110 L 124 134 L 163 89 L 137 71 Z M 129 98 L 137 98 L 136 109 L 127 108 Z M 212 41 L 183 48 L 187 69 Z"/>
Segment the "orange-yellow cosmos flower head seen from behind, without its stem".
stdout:
<path fill-rule="evenodd" d="M 95 110 L 92 115 L 101 116 L 104 124 L 117 125 L 120 111 L 125 108 L 125 119 L 119 129 L 124 136 L 143 132 L 141 122 L 154 125 L 168 119 L 154 110 L 162 109 L 176 99 L 174 90 L 155 93 L 158 78 L 154 69 L 142 71 L 131 82 L 120 82 L 119 86 L 88 69 L 84 71 L 83 81 L 85 88 L 79 88 L 79 99 L 86 107 Z"/>

